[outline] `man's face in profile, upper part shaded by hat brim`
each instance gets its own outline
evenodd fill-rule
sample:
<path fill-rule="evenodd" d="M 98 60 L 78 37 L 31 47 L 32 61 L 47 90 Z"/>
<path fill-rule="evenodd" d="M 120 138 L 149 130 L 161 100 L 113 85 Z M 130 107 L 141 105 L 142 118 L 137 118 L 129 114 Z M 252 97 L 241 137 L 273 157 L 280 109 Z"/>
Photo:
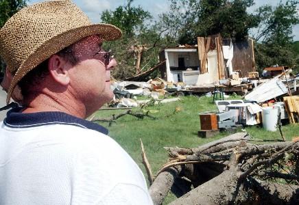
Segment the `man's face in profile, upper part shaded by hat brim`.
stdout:
<path fill-rule="evenodd" d="M 79 62 L 69 70 L 71 87 L 75 96 L 86 106 L 86 115 L 91 115 L 113 97 L 110 90 L 110 69 L 116 66 L 115 59 L 104 60 L 101 39 L 89 36 L 73 46 Z M 109 63 L 107 65 L 107 63 Z"/>

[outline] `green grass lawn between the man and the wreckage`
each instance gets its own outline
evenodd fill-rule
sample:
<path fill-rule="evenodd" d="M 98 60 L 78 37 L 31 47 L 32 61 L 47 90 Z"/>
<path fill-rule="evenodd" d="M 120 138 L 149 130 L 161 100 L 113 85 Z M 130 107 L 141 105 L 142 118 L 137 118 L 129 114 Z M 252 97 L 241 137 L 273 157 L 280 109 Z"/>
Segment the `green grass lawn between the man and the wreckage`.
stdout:
<path fill-rule="evenodd" d="M 239 96 L 230 96 L 230 99 L 239 99 Z M 167 104 L 152 105 L 143 108 L 143 111 L 149 111 L 152 118 L 139 120 L 131 115 L 125 115 L 119 118 L 112 126 L 106 122 L 99 124 L 109 129 L 110 137 L 115 139 L 138 163 L 146 176 L 141 159 L 142 139 L 147 158 L 150 161 L 154 174 L 167 161 L 167 152 L 163 149 L 165 146 L 178 146 L 194 148 L 208 141 L 214 141 L 231 133 L 223 132 L 215 137 L 203 139 L 198 137 L 200 131 L 199 113 L 204 111 L 216 111 L 217 107 L 212 103 L 211 97 L 184 96 L 177 102 Z M 140 109 L 134 109 L 140 111 Z M 97 117 L 110 117 L 113 113 L 123 113 L 124 110 L 97 111 Z M 248 126 L 239 128 L 239 131 L 247 131 L 256 139 L 281 139 L 279 132 L 265 131 L 259 126 Z M 283 133 L 287 140 L 299 136 L 298 125 L 283 126 Z"/>

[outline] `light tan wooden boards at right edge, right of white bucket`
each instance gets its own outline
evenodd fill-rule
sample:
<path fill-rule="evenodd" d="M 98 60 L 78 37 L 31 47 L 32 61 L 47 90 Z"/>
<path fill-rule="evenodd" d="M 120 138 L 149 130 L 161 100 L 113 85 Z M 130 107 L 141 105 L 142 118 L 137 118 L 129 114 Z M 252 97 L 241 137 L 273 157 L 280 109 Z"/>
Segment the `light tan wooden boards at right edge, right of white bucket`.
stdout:
<path fill-rule="evenodd" d="M 299 122 L 299 96 L 288 96 L 283 97 L 283 102 L 285 102 L 285 109 L 287 115 L 289 115 L 289 123 Z"/>

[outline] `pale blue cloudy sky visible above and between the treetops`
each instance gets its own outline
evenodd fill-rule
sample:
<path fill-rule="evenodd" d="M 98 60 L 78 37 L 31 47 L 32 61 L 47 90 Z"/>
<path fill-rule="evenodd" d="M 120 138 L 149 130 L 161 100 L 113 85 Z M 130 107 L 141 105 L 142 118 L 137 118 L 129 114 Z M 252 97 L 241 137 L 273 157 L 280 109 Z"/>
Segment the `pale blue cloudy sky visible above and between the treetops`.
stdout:
<path fill-rule="evenodd" d="M 28 0 L 28 4 L 40 2 L 43 0 Z M 261 5 L 277 5 L 280 0 L 255 0 L 255 5 L 249 8 L 248 12 L 253 12 Z M 286 0 L 283 0 L 283 3 Z M 101 21 L 100 14 L 104 10 L 115 10 L 119 5 L 125 5 L 126 0 L 73 0 L 83 12 L 93 21 L 93 23 L 99 23 Z M 159 14 L 167 12 L 169 10 L 169 0 L 134 0 L 132 5 L 140 5 L 143 10 L 147 10 L 152 14 L 154 18 L 158 18 Z M 299 15 L 299 9 L 298 9 Z M 293 29 L 294 40 L 299 40 L 299 25 L 296 25 Z"/>

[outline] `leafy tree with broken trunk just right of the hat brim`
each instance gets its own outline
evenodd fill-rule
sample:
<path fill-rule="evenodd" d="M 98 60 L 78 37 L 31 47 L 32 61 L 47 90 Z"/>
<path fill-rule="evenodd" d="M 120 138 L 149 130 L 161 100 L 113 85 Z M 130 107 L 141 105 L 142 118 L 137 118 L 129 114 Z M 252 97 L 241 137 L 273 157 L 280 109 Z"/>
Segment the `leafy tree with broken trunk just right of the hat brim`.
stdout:
<path fill-rule="evenodd" d="M 106 42 L 105 49 L 111 49 L 119 65 L 112 72 L 116 79 L 125 79 L 136 74 L 138 54 L 136 46 L 143 45 L 141 58 L 141 72 L 152 68 L 158 63 L 158 52 L 163 47 L 163 39 L 158 27 L 150 24 L 152 16 L 150 12 L 140 6 L 134 7 L 132 0 L 126 5 L 119 6 L 114 11 L 106 10 L 101 14 L 104 23 L 116 25 L 123 31 L 123 38 L 114 42 Z"/>

